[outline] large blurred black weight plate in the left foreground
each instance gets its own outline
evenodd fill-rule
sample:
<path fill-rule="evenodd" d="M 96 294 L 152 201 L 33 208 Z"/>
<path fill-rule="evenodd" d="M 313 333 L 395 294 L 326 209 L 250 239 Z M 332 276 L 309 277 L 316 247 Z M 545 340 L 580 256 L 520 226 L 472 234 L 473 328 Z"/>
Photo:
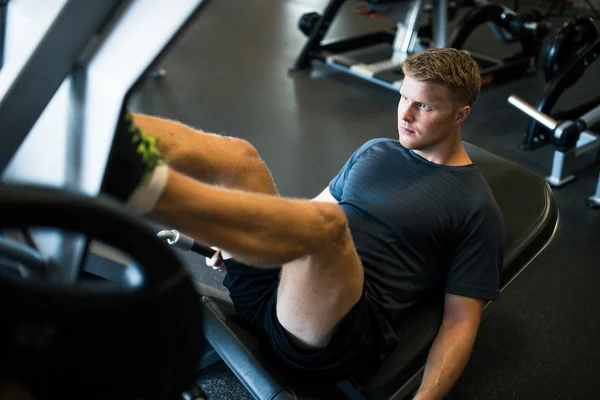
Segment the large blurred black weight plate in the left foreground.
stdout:
<path fill-rule="evenodd" d="M 204 339 L 200 298 L 169 246 L 106 200 L 0 185 L 0 228 L 23 226 L 110 245 L 135 260 L 141 280 L 0 274 L 0 381 L 25 385 L 36 399 L 181 396 L 195 381 Z"/>

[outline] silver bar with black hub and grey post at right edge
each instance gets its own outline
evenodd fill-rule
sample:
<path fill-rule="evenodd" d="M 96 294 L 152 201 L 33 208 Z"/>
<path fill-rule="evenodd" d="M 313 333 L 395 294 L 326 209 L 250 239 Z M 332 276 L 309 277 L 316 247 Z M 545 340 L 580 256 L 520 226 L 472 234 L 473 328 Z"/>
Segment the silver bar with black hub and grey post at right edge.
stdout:
<path fill-rule="evenodd" d="M 576 120 L 558 122 L 537 111 L 518 96 L 510 96 L 508 102 L 552 131 L 552 142 L 556 145 L 556 150 L 552 173 L 546 177 L 551 185 L 560 187 L 571 182 L 575 179 L 575 175 L 570 173 L 575 169 L 574 165 L 581 165 L 581 159 L 587 160 L 590 156 L 595 161 L 596 154 L 600 154 L 600 134 L 587 130 L 600 121 L 600 105 Z M 587 204 L 592 208 L 600 207 L 600 177 L 596 192 L 587 199 Z"/>

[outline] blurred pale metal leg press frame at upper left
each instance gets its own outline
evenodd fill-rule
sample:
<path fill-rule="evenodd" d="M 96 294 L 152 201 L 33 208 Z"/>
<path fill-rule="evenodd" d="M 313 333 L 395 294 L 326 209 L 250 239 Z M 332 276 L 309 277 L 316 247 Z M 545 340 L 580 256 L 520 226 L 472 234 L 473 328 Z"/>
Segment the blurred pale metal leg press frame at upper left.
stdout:
<path fill-rule="evenodd" d="M 2 180 L 97 195 L 124 101 L 201 4 L 11 2 L 6 38 L 19 46 L 0 73 Z M 57 279 L 73 281 L 85 238 L 36 236 L 62 265 Z"/>

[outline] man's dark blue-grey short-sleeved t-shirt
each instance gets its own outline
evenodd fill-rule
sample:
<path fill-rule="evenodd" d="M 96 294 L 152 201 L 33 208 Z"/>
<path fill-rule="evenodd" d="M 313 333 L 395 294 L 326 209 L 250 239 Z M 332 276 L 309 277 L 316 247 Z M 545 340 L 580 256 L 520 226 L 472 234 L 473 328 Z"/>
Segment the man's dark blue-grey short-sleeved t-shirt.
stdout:
<path fill-rule="evenodd" d="M 367 292 L 396 333 L 432 291 L 499 299 L 504 222 L 475 164 L 438 165 L 398 140 L 374 139 L 329 190 L 348 218 Z"/>

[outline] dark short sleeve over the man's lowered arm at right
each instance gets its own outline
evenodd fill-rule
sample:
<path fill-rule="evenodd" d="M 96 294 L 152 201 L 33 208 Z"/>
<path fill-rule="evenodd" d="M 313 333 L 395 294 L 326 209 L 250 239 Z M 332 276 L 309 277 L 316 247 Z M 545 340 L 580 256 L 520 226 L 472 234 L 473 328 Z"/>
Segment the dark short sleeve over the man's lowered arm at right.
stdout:
<path fill-rule="evenodd" d="M 468 213 L 446 277 L 446 293 L 500 299 L 505 227 L 491 193 Z"/>

